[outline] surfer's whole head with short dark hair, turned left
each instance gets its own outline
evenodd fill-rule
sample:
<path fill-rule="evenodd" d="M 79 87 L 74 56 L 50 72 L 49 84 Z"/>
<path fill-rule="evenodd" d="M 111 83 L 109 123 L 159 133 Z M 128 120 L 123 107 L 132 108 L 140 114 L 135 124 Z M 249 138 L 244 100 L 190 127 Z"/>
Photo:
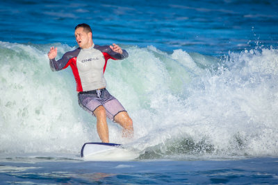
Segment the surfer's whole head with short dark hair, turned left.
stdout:
<path fill-rule="evenodd" d="M 74 36 L 81 49 L 88 49 L 92 46 L 92 29 L 88 24 L 79 24 L 75 27 Z"/>

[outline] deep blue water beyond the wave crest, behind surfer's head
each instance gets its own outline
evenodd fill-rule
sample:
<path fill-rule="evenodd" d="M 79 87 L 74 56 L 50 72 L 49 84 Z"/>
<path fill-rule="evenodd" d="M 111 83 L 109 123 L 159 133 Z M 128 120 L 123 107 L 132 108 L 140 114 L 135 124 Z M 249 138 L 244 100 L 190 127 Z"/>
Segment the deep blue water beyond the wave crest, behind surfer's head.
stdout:
<path fill-rule="evenodd" d="M 209 55 L 277 46 L 277 1 L 1 1 L 0 40 L 75 46 L 74 26 L 98 44 Z"/>

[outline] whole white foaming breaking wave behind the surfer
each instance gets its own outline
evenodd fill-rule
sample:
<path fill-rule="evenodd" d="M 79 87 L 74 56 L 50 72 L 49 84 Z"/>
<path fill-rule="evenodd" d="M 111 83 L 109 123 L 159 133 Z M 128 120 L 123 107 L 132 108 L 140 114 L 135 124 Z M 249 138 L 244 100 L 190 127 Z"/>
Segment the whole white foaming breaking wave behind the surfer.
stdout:
<path fill-rule="evenodd" d="M 58 58 L 67 45 L 58 46 Z M 77 103 L 70 69 L 52 72 L 51 44 L 1 42 L 1 152 L 78 153 L 99 141 L 95 118 Z M 277 50 L 254 49 L 222 58 L 154 46 L 124 46 L 108 60 L 108 90 L 133 119 L 132 141 L 108 121 L 111 142 L 140 159 L 277 156 Z"/>

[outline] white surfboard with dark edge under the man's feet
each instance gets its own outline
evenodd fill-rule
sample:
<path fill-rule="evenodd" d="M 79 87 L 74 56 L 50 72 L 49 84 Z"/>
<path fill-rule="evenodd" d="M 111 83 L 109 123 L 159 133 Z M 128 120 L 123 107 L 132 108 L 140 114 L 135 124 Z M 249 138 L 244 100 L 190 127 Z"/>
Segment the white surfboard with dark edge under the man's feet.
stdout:
<path fill-rule="evenodd" d="M 126 161 L 136 159 L 139 154 L 115 143 L 85 143 L 81 157 L 94 161 Z"/>

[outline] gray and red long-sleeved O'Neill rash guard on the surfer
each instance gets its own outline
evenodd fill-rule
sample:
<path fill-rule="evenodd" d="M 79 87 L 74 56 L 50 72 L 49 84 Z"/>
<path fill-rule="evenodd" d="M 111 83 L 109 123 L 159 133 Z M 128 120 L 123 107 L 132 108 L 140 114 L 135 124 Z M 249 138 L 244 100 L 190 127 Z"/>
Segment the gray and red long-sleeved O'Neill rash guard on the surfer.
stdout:
<path fill-rule="evenodd" d="M 110 46 L 92 44 L 89 49 L 75 49 L 63 55 L 60 60 L 49 60 L 52 71 L 60 71 L 72 67 L 76 80 L 76 91 L 91 91 L 106 87 L 104 71 L 108 59 L 122 60 L 129 54 L 122 50 L 122 54 L 115 53 Z"/>

